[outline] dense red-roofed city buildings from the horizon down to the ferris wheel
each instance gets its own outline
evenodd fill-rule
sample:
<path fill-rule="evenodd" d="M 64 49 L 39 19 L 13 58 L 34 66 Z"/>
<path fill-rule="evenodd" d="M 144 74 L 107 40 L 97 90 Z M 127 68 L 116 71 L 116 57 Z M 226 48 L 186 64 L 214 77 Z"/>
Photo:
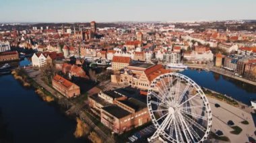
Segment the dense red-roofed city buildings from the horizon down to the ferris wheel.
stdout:
<path fill-rule="evenodd" d="M 110 130 L 123 134 L 150 122 L 147 89 L 156 77 L 177 67 L 215 66 L 255 81 L 256 33 L 225 26 L 198 31 L 174 23 L 103 27 L 92 21 L 4 30 L 0 62 L 32 51 L 31 66 L 56 70 L 51 85 L 67 98 L 81 95 L 83 87 L 73 77 L 97 83 L 101 90 L 89 94 L 90 110 Z"/>

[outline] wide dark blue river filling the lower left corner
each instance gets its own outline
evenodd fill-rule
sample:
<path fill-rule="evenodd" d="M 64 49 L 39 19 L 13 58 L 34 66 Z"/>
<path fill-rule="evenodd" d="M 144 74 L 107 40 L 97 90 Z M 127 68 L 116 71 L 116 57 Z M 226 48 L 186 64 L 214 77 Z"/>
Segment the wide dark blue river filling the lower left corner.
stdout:
<path fill-rule="evenodd" d="M 4 122 L 8 130 L 8 137 L 3 138 L 26 143 L 88 142 L 73 136 L 75 120 L 65 116 L 57 105 L 42 101 L 34 90 L 22 87 L 12 75 L 1 75 L 0 85 L 0 127 Z"/>

